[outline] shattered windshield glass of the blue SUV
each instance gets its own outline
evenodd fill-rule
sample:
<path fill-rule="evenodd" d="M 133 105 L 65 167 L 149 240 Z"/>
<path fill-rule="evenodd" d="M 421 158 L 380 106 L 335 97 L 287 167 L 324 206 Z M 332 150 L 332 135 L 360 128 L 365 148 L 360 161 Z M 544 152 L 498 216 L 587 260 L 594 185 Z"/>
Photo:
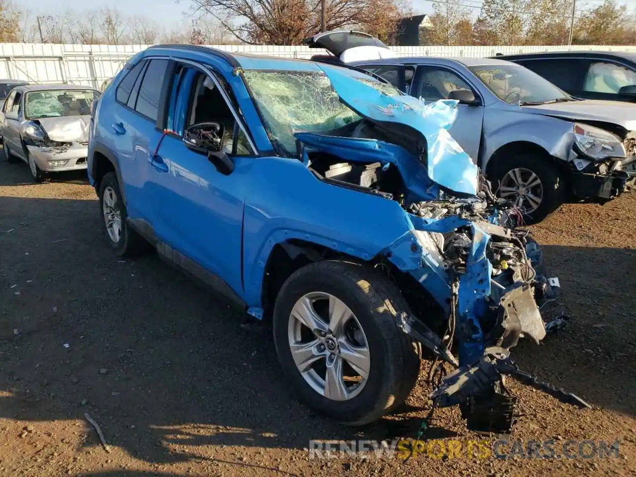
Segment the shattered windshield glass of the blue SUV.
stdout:
<path fill-rule="evenodd" d="M 280 153 L 296 155 L 294 132 L 327 132 L 361 120 L 340 102 L 326 74 L 319 71 L 244 71 L 267 133 Z M 387 94 L 393 86 L 371 78 L 356 78 Z"/>

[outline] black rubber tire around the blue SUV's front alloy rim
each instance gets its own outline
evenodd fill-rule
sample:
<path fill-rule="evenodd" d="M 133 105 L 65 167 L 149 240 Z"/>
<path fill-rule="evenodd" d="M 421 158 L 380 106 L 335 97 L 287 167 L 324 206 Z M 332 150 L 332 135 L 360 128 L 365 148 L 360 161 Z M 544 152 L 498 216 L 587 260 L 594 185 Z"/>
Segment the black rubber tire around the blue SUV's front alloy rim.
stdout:
<path fill-rule="evenodd" d="M 354 328 L 359 324 L 364 337 L 360 342 L 366 343 L 370 355 L 371 364 L 364 384 L 358 385 L 360 389 L 349 387 L 353 390 L 351 396 L 340 400 L 324 396 L 326 392 L 316 391 L 301 374 L 291 352 L 291 335 L 296 329 L 292 310 L 301 298 L 317 293 L 331 295 L 349 308 L 354 317 L 346 324 L 349 326 L 353 322 Z M 369 266 L 320 261 L 296 270 L 283 284 L 277 297 L 273 338 L 282 371 L 301 401 L 321 415 L 347 425 L 368 424 L 399 408 L 415 386 L 420 370 L 419 348 L 396 326 L 395 317 L 401 311 L 409 312 L 397 287 Z M 326 322 L 323 321 L 323 324 Z M 309 336 L 308 340 L 317 337 L 307 328 L 300 328 Z M 329 336 L 328 333 L 322 342 L 328 344 Z M 320 342 L 321 338 L 317 340 Z M 346 345 L 338 339 L 336 360 L 342 360 L 340 352 Z M 324 345 L 322 350 L 325 355 L 328 354 Z M 328 358 L 321 357 L 312 366 L 319 368 L 323 363 L 328 363 Z M 342 363 L 345 361 L 342 360 Z M 324 385 L 324 380 L 322 383 Z"/>

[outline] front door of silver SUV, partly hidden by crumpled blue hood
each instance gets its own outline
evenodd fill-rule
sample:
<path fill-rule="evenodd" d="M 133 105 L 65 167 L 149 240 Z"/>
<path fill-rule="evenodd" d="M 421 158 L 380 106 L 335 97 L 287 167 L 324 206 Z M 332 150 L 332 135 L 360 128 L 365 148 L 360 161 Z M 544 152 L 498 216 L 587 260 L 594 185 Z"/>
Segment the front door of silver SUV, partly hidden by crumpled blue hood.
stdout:
<path fill-rule="evenodd" d="M 472 91 L 475 98 L 479 93 L 456 71 L 439 66 L 418 66 L 410 94 L 427 101 L 449 99 L 450 92 L 456 90 Z M 473 162 L 477 163 L 483 125 L 483 106 L 459 104 L 457 119 L 449 132 L 462 146 Z"/>

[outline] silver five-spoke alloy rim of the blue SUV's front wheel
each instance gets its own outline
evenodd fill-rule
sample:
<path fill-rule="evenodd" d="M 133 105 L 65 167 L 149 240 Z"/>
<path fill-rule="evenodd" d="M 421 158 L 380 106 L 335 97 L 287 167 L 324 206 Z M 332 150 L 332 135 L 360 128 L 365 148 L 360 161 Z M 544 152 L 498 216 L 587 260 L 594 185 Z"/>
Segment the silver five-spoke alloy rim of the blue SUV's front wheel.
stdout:
<path fill-rule="evenodd" d="M 371 370 L 364 330 L 345 303 L 328 293 L 305 294 L 289 315 L 289 348 L 296 368 L 315 392 L 348 401 Z"/>

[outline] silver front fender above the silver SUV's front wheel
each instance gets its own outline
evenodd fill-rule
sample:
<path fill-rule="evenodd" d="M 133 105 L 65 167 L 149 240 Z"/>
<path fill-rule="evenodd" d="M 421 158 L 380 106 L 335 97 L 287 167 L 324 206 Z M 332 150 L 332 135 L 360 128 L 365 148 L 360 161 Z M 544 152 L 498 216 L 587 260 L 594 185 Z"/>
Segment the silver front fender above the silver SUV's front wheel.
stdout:
<path fill-rule="evenodd" d="M 531 142 L 545 149 L 551 156 L 567 161 L 574 144 L 572 123 L 509 109 L 485 114 L 481 169 L 487 170 L 492 155 L 511 142 Z"/>

